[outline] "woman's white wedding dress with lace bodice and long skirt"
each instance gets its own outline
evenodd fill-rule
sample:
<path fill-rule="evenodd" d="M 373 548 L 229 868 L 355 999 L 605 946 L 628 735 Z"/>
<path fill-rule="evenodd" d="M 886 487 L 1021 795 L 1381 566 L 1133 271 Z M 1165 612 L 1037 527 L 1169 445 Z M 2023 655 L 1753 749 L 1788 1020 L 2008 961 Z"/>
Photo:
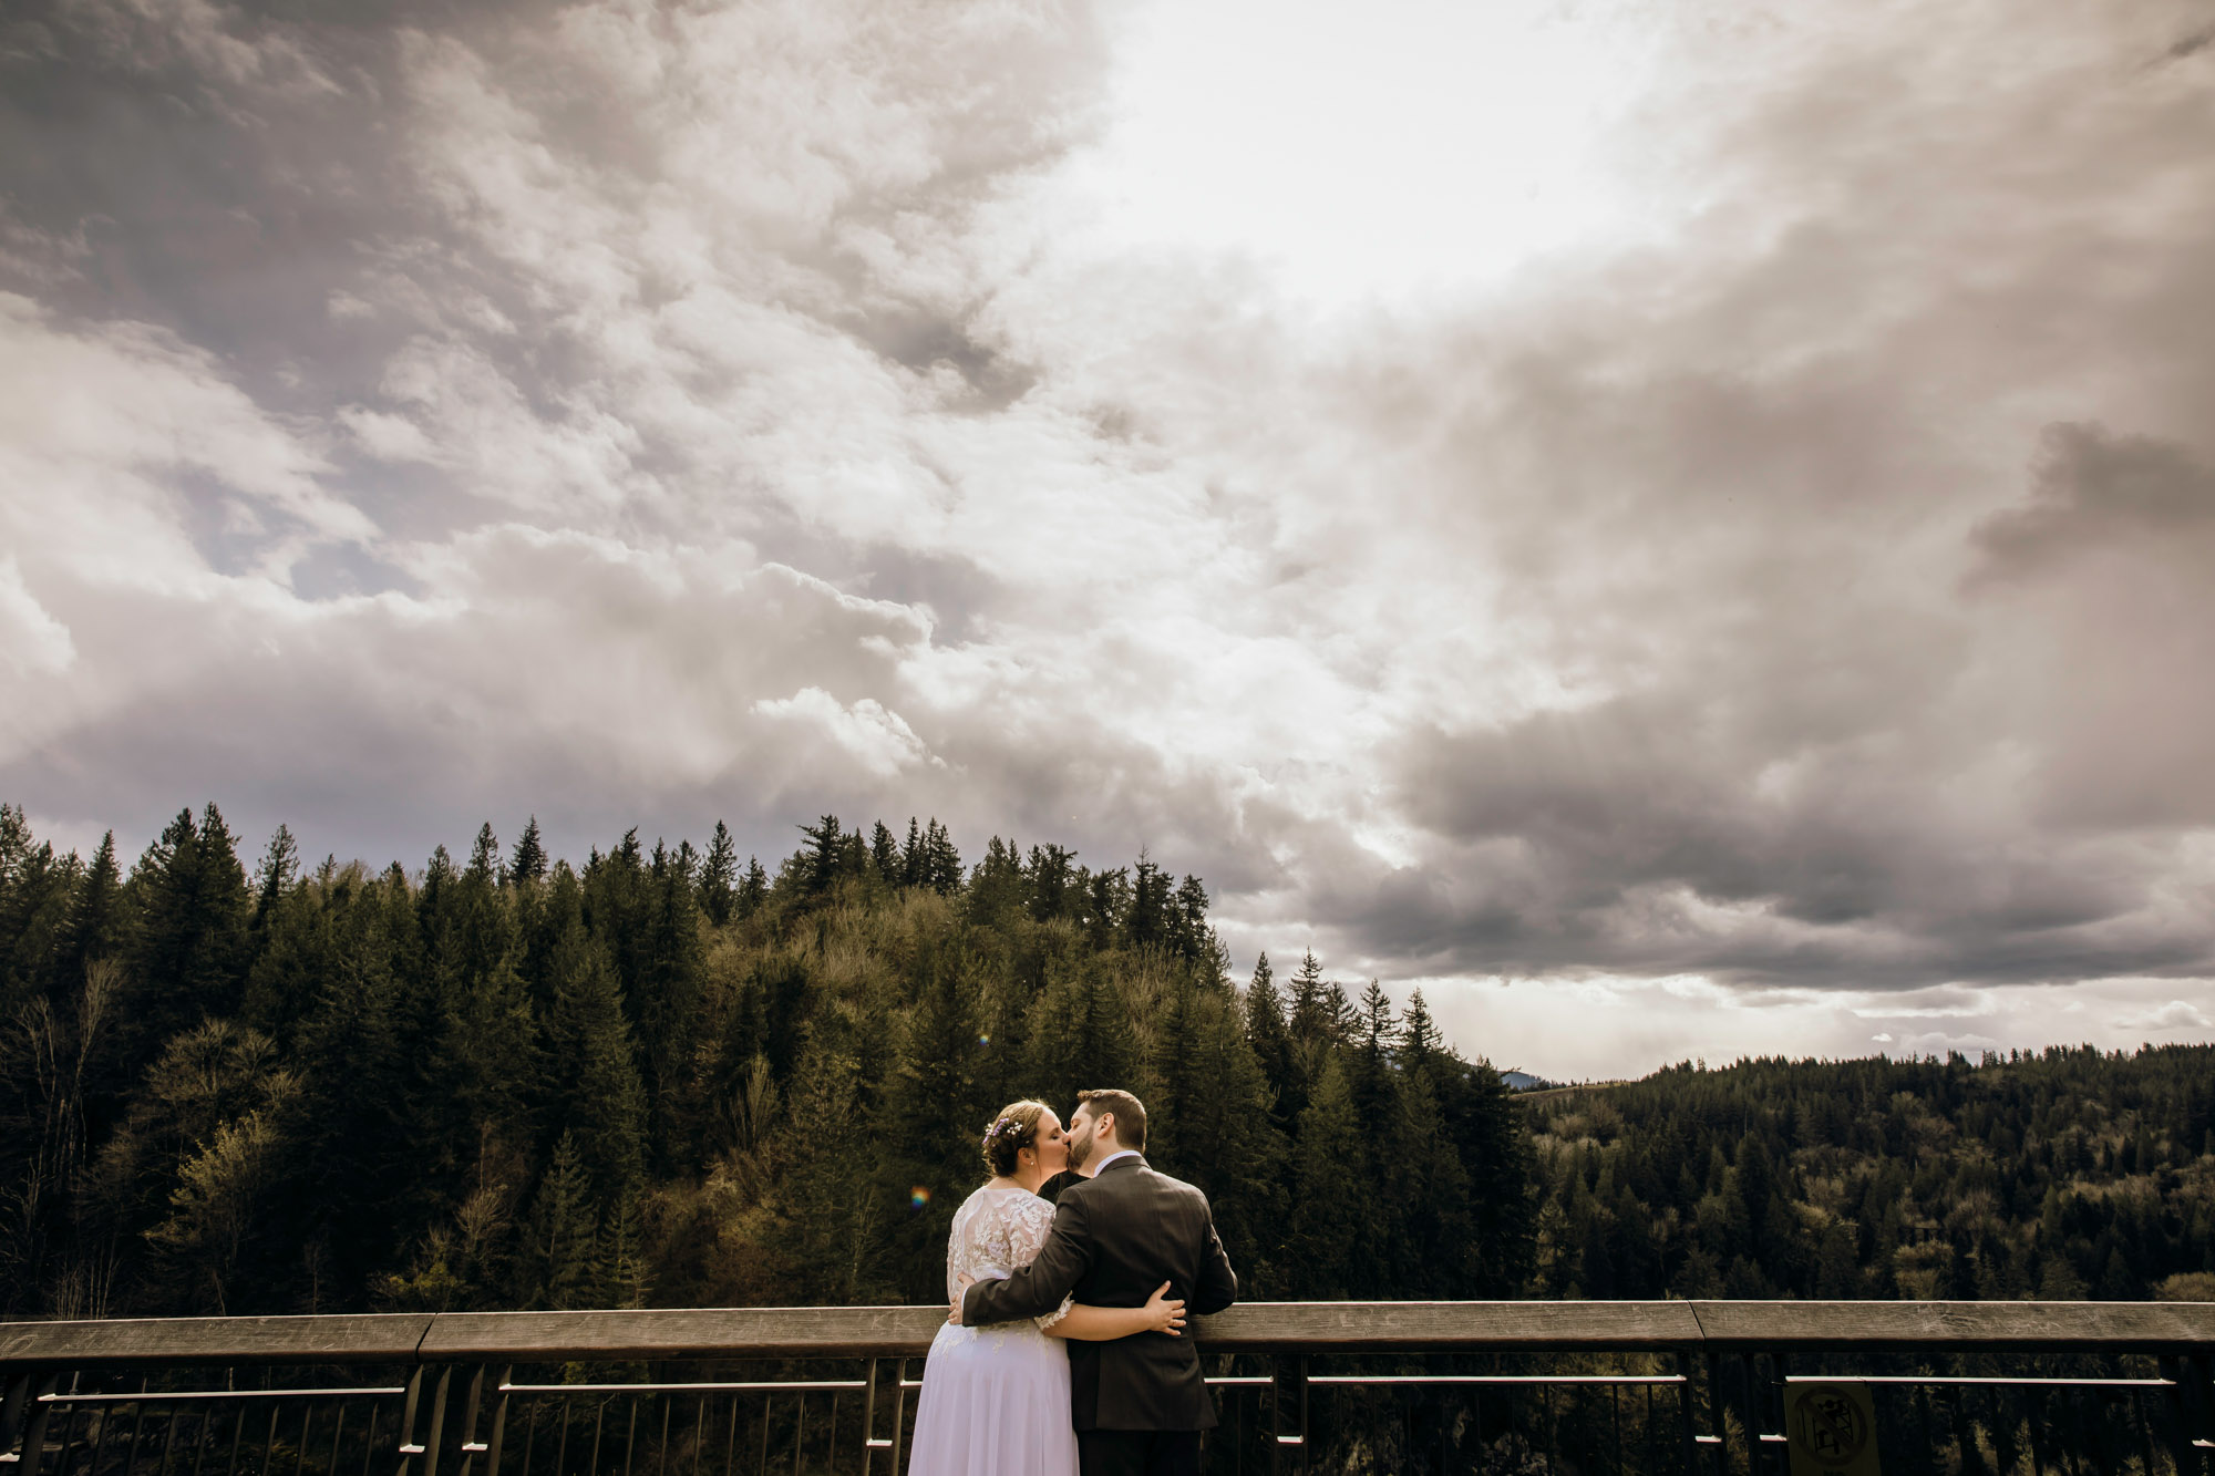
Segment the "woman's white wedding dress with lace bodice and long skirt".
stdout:
<path fill-rule="evenodd" d="M 1003 1279 L 1030 1265 L 1054 1223 L 1054 1206 L 1023 1188 L 981 1190 L 955 1210 L 946 1239 L 946 1296 L 959 1277 Z M 915 1403 L 908 1476 L 1076 1476 L 1070 1425 L 1070 1356 L 1045 1336 L 1070 1299 L 1037 1319 L 990 1328 L 939 1328 Z"/>

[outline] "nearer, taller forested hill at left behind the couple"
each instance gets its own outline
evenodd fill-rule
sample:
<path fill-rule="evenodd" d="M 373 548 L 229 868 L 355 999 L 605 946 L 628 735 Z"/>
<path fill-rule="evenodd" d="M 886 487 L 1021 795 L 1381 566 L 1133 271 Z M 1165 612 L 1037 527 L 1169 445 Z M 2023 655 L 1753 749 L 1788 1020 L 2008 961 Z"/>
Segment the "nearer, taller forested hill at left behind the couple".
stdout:
<path fill-rule="evenodd" d="M 822 818 L 128 869 L 0 809 L 0 1316 L 935 1301 L 1008 1099 L 1132 1086 L 1249 1296 L 1504 1296 L 1531 1139 L 1420 997 L 1234 986 L 1207 893 Z"/>

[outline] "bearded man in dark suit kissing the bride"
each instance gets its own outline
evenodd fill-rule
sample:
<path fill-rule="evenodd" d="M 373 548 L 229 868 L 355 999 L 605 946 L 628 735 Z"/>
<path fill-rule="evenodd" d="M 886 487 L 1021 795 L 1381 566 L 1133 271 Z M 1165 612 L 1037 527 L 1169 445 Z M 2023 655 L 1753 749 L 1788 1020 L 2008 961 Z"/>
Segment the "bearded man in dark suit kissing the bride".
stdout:
<path fill-rule="evenodd" d="M 1145 1108 L 1130 1093 L 1076 1093 L 1070 1168 L 1054 1228 L 1030 1265 L 979 1281 L 961 1299 L 970 1328 L 1043 1316 L 1063 1296 L 1092 1308 L 1143 1308 L 1163 1281 L 1201 1316 L 1238 1299 L 1207 1195 L 1145 1161 Z M 1192 1339 L 1141 1332 L 1112 1343 L 1070 1341 L 1070 1403 L 1083 1476 L 1198 1476 L 1201 1432 L 1216 1405 Z"/>

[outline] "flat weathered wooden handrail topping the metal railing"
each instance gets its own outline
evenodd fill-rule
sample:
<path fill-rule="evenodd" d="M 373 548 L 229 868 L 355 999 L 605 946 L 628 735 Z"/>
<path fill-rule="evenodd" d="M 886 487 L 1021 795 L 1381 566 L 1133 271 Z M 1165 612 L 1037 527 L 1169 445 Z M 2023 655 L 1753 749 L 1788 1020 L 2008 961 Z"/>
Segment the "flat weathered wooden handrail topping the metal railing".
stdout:
<path fill-rule="evenodd" d="M 0 1323 L 0 1363 L 463 1363 L 921 1356 L 937 1308 L 671 1308 Z M 1207 1352 L 2199 1350 L 2215 1303 L 1260 1301 L 1194 1319 Z"/>

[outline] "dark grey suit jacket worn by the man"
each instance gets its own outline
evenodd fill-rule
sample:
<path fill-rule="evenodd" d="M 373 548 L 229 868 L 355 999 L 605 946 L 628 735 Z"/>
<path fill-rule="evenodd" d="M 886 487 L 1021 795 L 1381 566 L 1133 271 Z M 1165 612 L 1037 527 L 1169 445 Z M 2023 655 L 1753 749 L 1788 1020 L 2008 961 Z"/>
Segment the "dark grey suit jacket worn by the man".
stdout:
<path fill-rule="evenodd" d="M 1132 1157 L 1061 1190 L 1039 1257 L 1006 1281 L 972 1285 L 961 1321 L 981 1328 L 1043 1316 L 1072 1294 L 1088 1308 L 1143 1308 L 1163 1281 L 1187 1314 L 1238 1301 L 1207 1195 Z M 1201 1383 L 1189 1325 L 1181 1339 L 1141 1332 L 1112 1343 L 1070 1339 L 1068 1347 L 1076 1429 L 1214 1429 L 1216 1405 Z"/>

